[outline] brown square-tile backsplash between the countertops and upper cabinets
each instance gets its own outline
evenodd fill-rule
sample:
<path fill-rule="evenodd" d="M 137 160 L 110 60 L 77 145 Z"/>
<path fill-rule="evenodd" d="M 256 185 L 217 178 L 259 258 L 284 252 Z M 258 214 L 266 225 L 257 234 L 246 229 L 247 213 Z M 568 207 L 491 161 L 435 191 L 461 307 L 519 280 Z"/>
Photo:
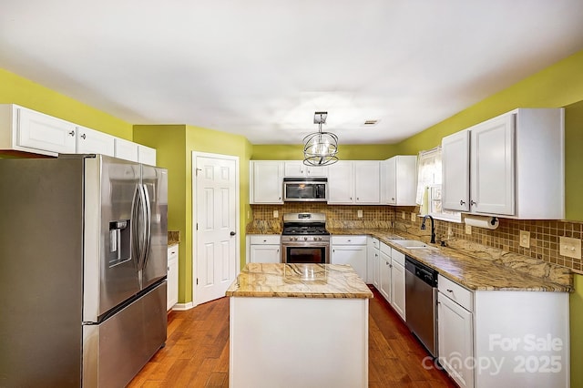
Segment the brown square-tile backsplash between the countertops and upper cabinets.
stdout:
<path fill-rule="evenodd" d="M 330 228 L 387 228 L 403 224 L 407 230 L 417 230 L 418 235 L 427 236 L 430 228 L 420 230 L 421 218 L 411 220 L 411 213 L 418 213 L 415 207 L 392 206 L 342 206 L 326 205 L 321 202 L 290 202 L 283 205 L 251 205 L 253 221 L 282 221 L 283 213 L 322 212 L 326 214 Z M 273 211 L 278 211 L 278 218 L 273 218 Z M 363 217 L 358 217 L 358 210 L 363 210 Z M 405 219 L 402 218 L 403 212 Z M 472 234 L 465 234 L 465 224 L 435 220 L 437 240 L 462 239 L 489 247 L 522 254 L 534 259 L 545 260 L 568 267 L 582 273 L 583 261 L 560 255 L 559 238 L 583 238 L 583 222 L 564 220 L 510 220 L 499 219 L 496 230 L 472 228 Z M 520 246 L 520 230 L 530 232 L 530 247 Z M 450 231 L 448 235 L 448 231 Z"/>

